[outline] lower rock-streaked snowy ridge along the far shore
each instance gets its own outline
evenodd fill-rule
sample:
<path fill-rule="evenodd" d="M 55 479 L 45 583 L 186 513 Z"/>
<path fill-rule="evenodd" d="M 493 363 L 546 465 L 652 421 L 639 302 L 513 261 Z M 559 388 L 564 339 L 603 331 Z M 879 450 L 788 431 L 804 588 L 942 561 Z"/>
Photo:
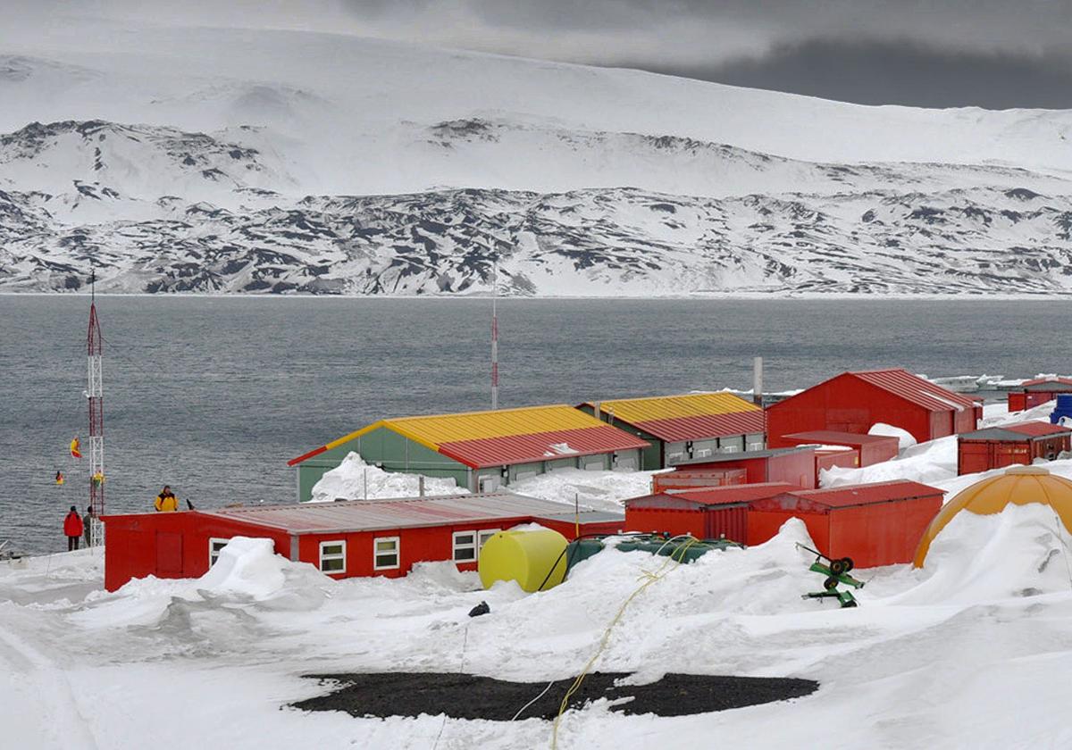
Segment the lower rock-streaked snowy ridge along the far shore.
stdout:
<path fill-rule="evenodd" d="M 479 292 L 496 258 L 501 291 L 523 296 L 1072 290 L 1072 199 L 1027 189 L 296 201 L 245 189 L 228 209 L 75 188 L 0 192 L 0 290 L 76 289 L 92 261 L 104 291 Z"/>

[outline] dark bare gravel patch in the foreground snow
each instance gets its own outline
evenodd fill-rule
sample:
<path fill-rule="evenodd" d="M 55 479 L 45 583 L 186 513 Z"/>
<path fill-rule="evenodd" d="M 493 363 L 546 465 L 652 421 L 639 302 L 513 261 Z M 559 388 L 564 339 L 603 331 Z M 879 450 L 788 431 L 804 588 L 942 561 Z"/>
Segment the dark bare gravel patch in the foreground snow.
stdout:
<path fill-rule="evenodd" d="M 787 677 L 724 677 L 668 674 L 649 685 L 620 685 L 627 673 L 590 674 L 574 693 L 569 708 L 591 701 L 622 701 L 612 706 L 623 714 L 687 716 L 785 701 L 815 692 L 819 684 Z M 307 675 L 331 680 L 340 687 L 327 695 L 293 704 L 313 711 L 345 711 L 357 717 L 446 714 L 455 719 L 509 721 L 547 687 L 547 682 L 510 682 L 458 673 L 392 672 Z M 547 693 L 518 717 L 554 719 L 572 677 L 555 680 Z M 623 700 L 631 699 L 631 700 Z"/>

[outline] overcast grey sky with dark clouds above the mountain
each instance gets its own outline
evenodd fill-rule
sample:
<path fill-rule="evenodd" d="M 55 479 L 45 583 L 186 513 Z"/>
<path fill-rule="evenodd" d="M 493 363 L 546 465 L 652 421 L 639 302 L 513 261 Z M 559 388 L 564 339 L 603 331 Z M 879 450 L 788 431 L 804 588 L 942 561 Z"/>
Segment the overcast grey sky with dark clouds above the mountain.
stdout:
<path fill-rule="evenodd" d="M 1072 0 L 0 0 L 639 68 L 866 104 L 1072 108 Z"/>

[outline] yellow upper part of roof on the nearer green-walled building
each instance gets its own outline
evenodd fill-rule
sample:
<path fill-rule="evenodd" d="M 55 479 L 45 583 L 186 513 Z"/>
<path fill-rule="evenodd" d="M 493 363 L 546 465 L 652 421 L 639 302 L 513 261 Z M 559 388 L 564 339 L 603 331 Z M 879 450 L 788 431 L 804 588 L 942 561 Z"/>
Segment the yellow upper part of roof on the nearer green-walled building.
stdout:
<path fill-rule="evenodd" d="M 494 411 L 465 411 L 427 417 L 382 419 L 327 444 L 326 448 L 331 450 L 381 426 L 393 430 L 432 450 L 438 450 L 444 442 L 532 435 L 559 430 L 582 430 L 604 425 L 605 423 L 595 417 L 572 406 L 552 404 L 550 406 L 526 406 Z"/>

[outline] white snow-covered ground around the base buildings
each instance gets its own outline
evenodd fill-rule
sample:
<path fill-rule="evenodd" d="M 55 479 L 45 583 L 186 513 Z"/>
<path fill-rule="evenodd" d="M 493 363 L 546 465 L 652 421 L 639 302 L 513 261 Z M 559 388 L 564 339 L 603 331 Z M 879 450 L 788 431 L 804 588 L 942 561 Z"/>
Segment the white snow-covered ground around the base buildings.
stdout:
<path fill-rule="evenodd" d="M 985 422 L 1043 418 L 1048 405 Z M 364 467 L 326 486 L 364 483 Z M 1072 477 L 1072 461 L 1047 464 Z M 406 494 L 398 475 L 375 493 Z M 345 476 L 343 476 L 345 475 Z M 915 479 L 956 491 L 955 440 L 828 476 L 836 483 Z M 649 472 L 563 471 L 525 494 L 615 507 Z M 828 482 L 829 483 L 829 482 Z M 453 490 L 451 490 L 453 491 Z M 1072 745 L 1072 557 L 1052 509 L 1011 506 L 956 516 L 927 568 L 863 570 L 860 608 L 805 601 L 819 578 L 790 521 L 766 544 L 710 553 L 652 585 L 613 629 L 596 669 L 816 679 L 814 695 L 691 717 L 622 716 L 597 702 L 566 715 L 559 747 L 706 745 L 749 748 L 1015 748 Z M 133 581 L 102 590 L 100 550 L 0 562 L 0 726 L 12 748 L 292 747 L 546 748 L 551 725 L 352 718 L 287 705 L 330 686 L 308 674 L 465 671 L 539 682 L 576 675 L 605 628 L 654 569 L 644 553 L 605 551 L 561 586 L 480 590 L 451 564 L 407 578 L 332 581 L 236 539 L 198 580 Z M 489 615 L 470 618 L 479 601 Z M 535 693 L 534 693 L 535 696 Z M 519 706 L 520 708 L 520 706 Z"/>

